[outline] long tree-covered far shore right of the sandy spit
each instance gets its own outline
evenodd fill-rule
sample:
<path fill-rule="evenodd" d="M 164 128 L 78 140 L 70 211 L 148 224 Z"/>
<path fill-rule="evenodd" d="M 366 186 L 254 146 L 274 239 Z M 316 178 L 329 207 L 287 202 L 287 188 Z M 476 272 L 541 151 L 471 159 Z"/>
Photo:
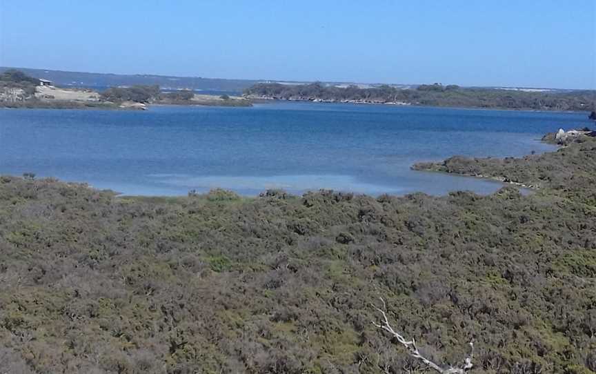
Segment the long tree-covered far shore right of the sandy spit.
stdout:
<path fill-rule="evenodd" d="M 517 110 L 589 111 L 594 110 L 596 105 L 594 90 L 463 88 L 438 83 L 405 89 L 388 85 L 359 88 L 323 83 L 259 83 L 245 90 L 244 94 L 250 99 Z"/>

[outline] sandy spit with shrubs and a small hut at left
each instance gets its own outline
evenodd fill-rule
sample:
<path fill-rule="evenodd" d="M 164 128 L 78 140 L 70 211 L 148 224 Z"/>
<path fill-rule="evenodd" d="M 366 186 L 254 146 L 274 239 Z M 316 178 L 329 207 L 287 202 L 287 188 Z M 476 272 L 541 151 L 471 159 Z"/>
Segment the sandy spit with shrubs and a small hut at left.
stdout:
<path fill-rule="evenodd" d="M 149 104 L 252 105 L 243 97 L 197 95 L 191 90 L 162 92 L 159 86 L 112 87 L 97 92 L 88 88 L 59 88 L 52 81 L 30 77 L 19 70 L 0 74 L 0 107 L 146 109 Z"/>

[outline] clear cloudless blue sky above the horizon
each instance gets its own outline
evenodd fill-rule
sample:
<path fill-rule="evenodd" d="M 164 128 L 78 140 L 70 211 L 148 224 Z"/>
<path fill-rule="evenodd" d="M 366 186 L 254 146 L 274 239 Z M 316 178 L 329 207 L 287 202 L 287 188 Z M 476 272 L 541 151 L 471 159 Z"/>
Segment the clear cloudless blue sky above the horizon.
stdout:
<path fill-rule="evenodd" d="M 596 0 L 0 0 L 0 66 L 596 88 Z"/>

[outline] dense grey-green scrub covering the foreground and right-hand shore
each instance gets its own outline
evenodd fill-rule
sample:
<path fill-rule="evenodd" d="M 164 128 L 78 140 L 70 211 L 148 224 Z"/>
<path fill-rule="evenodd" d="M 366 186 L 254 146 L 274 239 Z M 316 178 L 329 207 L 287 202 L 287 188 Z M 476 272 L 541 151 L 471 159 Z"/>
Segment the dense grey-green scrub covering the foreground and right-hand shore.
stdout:
<path fill-rule="evenodd" d="M 0 177 L 3 371 L 428 372 L 371 323 L 379 297 L 441 367 L 473 340 L 470 373 L 596 371 L 596 139 L 452 164 L 539 188 L 135 198 Z"/>

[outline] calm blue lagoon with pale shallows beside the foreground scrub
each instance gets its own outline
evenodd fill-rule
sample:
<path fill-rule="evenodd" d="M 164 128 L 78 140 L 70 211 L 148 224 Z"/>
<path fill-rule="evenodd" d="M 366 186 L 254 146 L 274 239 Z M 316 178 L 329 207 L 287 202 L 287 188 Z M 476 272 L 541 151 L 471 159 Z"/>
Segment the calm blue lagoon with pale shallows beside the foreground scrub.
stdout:
<path fill-rule="evenodd" d="M 452 155 L 521 156 L 590 126 L 584 113 L 279 102 L 252 108 L 0 110 L 0 174 L 86 181 L 128 195 L 331 188 L 402 195 L 491 193 L 493 181 L 415 172 Z"/>

